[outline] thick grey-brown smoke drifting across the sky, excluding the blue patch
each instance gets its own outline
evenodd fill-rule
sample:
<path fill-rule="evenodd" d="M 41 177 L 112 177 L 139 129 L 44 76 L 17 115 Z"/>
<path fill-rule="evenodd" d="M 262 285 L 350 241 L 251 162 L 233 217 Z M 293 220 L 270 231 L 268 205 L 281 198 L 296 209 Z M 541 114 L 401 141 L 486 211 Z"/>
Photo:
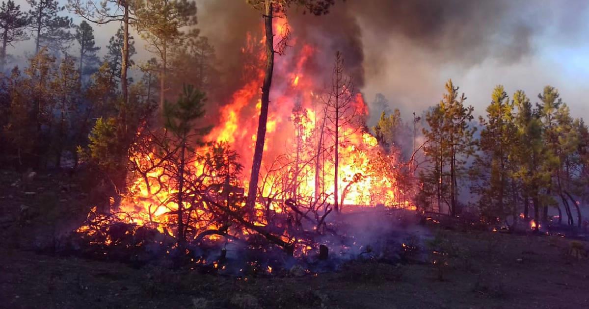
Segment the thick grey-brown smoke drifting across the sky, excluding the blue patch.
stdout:
<path fill-rule="evenodd" d="M 477 92 L 474 98 L 482 102 L 471 101 L 477 109 L 482 110 L 499 83 L 514 82 L 512 87 L 524 89 L 533 84 L 528 90 L 534 97 L 542 85 L 553 81 L 512 81 L 497 68 L 521 71 L 523 65 L 529 71 L 544 70 L 535 63 L 538 46 L 547 40 L 555 45 L 577 44 L 588 4 L 581 0 L 336 0 L 325 16 L 303 15 L 291 8 L 289 22 L 299 39 L 320 46 L 317 68 L 329 68 L 333 53 L 340 50 L 366 101 L 382 92 L 393 108 L 419 114 L 439 101 L 448 78 L 458 79 L 458 85 L 480 84 L 463 79 L 481 67 L 489 67 L 485 76 L 489 84 L 461 89 L 471 98 Z M 216 46 L 224 68 L 239 67 L 243 38 L 248 31 L 259 31 L 260 12 L 246 1 L 200 0 L 197 5 L 199 27 Z"/>

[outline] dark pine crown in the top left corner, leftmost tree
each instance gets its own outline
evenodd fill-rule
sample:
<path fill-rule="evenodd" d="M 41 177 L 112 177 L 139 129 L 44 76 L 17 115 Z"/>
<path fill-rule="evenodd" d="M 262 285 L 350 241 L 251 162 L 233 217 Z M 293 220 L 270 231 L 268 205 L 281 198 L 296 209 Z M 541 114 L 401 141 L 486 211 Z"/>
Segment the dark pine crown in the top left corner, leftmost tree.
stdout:
<path fill-rule="evenodd" d="M 6 65 L 6 47 L 13 46 L 13 42 L 28 39 L 25 34 L 25 27 L 29 19 L 25 12 L 21 11 L 20 5 L 15 5 L 14 1 L 2 1 L 0 6 L 0 36 L 2 37 L 2 50 L 0 51 L 0 71 Z"/>

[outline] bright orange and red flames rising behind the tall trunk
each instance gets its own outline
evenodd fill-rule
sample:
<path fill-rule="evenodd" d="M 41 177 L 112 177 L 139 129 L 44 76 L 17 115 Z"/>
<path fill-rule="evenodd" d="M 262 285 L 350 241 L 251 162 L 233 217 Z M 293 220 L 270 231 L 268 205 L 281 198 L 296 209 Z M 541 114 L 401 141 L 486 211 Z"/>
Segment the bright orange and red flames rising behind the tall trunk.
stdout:
<path fill-rule="evenodd" d="M 286 26 L 286 19 L 274 20 L 277 35 L 283 34 Z M 294 30 L 290 32 L 296 35 Z M 220 108 L 217 125 L 204 138 L 223 145 L 225 150 L 233 149 L 239 154 L 238 161 L 243 166 L 239 177 L 230 181 L 227 177 L 226 186 L 218 188 L 217 193 L 231 188 L 231 196 L 237 196 L 247 192 L 249 186 L 266 57 L 263 44 L 263 39 L 249 35 L 242 52 L 250 58 L 253 56 L 255 64 L 244 70 L 248 74 L 243 78 L 243 85 L 233 93 L 231 101 Z M 307 208 L 315 207 L 316 212 L 323 214 L 334 202 L 335 141 L 330 131 L 332 124 L 324 119 L 326 108 L 322 102 L 323 80 L 329 78 L 332 70 L 326 69 L 323 72 L 325 76 L 317 76 L 313 61 L 316 61 L 319 52 L 317 46 L 304 44 L 295 37 L 290 39 L 287 54 L 276 57 L 260 196 L 254 217 L 244 214 L 256 226 L 266 227 L 272 217 L 292 212 L 292 205 L 289 207 L 285 202 L 289 199 L 299 205 L 307 205 Z M 365 118 L 367 108 L 360 93 L 354 95 L 352 106 L 358 117 Z M 323 134 L 322 144 L 319 144 L 320 134 Z M 337 190 L 344 211 L 350 205 L 374 207 L 379 204 L 415 209 L 397 185 L 396 158 L 383 152 L 373 135 L 359 125 L 349 125 L 340 128 L 340 136 Z M 194 152 L 203 155 L 190 160 L 186 174 L 207 185 L 223 183 L 222 179 L 215 179 L 223 178 L 219 171 L 206 171 L 205 162 L 209 159 L 204 154 L 207 152 L 211 152 L 211 147 L 201 147 Z M 112 209 L 111 213 L 116 214 L 120 221 L 176 235 L 178 205 L 173 198 L 178 192 L 176 180 L 167 174 L 166 168 L 160 167 L 157 161 L 161 157 L 154 152 L 138 150 L 130 160 L 138 168 L 130 175 L 132 181 L 128 191 L 119 202 L 112 203 L 112 207 L 117 209 Z M 197 192 L 193 193 L 196 195 Z M 225 198 L 229 198 L 229 194 Z M 244 202 L 239 200 L 237 205 L 243 207 Z M 196 238 L 208 230 L 223 230 L 237 238 L 253 233 L 251 227 L 223 226 L 224 219 L 206 200 L 186 200 L 183 208 L 190 210 L 185 219 L 187 229 L 191 231 L 187 237 Z M 97 220 L 94 219 L 94 222 Z M 88 230 L 91 228 L 85 225 L 78 231 Z M 286 232 L 276 234 L 280 234 L 280 240 L 284 242 L 302 242 L 300 247 L 303 250 L 310 248 L 304 241 Z M 207 237 L 214 240 L 220 238 L 219 235 L 213 233 Z"/>

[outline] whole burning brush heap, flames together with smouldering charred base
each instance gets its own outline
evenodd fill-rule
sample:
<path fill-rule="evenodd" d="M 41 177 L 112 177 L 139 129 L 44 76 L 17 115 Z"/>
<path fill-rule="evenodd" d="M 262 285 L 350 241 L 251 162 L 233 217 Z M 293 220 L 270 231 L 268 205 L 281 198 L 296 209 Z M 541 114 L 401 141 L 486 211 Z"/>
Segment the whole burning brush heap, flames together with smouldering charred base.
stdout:
<path fill-rule="evenodd" d="M 274 69 L 253 207 L 244 192 L 260 113 L 264 40 L 248 35 L 242 86 L 213 113 L 220 117 L 216 125 L 204 136 L 201 130 L 182 138 L 141 127 L 130 148 L 126 190 L 92 208 L 64 251 L 230 274 L 307 273 L 353 259 L 395 262 L 417 253 L 423 232 L 412 231 L 411 185 L 399 181 L 405 169 L 395 152 L 384 151 L 365 129 L 362 95 L 351 83 L 336 90 L 349 103 L 336 111 L 316 65 L 325 51 L 297 41 L 286 18 L 274 19 L 274 32 L 290 38 L 290 46 Z M 335 65 L 342 64 L 337 58 Z"/>

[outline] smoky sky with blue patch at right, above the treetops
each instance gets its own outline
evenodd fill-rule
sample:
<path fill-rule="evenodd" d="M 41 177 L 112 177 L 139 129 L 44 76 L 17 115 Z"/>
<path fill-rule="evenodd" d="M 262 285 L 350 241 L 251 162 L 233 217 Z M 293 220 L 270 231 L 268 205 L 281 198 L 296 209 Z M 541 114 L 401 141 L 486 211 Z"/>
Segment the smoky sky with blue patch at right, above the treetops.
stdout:
<path fill-rule="evenodd" d="M 15 2 L 28 11 L 25 0 Z M 196 2 L 198 28 L 221 56 L 231 36 L 241 33 L 237 27 L 261 21 L 243 0 Z M 532 102 L 552 85 L 574 117 L 589 118 L 588 6 L 582 0 L 347 0 L 327 16 L 313 16 L 310 26 L 333 40 L 354 36 L 366 101 L 382 93 L 405 119 L 437 104 L 449 78 L 477 115 L 484 113 L 495 85 L 504 85 L 509 95 L 523 89 Z M 82 20 L 68 15 L 75 24 Z M 346 37 L 350 25 L 354 33 Z M 119 25 L 92 26 L 102 54 Z M 342 33 L 332 35 L 337 31 Z M 147 59 L 140 36 L 134 36 L 135 59 Z M 32 41 L 18 42 L 8 53 L 24 61 L 33 49 Z"/>

